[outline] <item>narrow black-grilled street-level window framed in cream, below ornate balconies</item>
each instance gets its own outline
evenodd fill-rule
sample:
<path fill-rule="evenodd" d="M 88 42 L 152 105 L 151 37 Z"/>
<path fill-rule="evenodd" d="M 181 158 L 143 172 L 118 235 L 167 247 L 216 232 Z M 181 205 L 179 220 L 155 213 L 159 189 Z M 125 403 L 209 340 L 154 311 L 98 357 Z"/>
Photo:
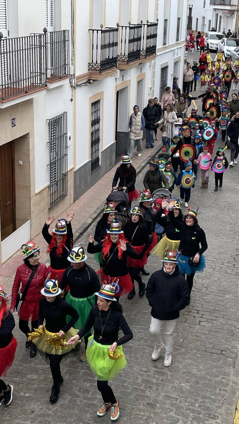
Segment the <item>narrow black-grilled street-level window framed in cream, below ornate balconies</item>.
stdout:
<path fill-rule="evenodd" d="M 101 142 L 101 100 L 91 103 L 91 172 L 100 166 L 100 142 Z"/>

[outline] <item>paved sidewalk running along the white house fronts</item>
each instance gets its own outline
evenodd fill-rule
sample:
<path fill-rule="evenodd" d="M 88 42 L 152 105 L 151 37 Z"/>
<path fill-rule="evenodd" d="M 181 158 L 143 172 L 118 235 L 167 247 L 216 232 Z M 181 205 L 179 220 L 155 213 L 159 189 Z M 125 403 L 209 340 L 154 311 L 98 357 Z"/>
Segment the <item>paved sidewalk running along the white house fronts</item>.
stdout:
<path fill-rule="evenodd" d="M 158 134 L 158 139 L 159 138 L 161 138 L 160 134 Z M 141 157 L 138 157 L 135 148 L 134 154 L 132 156 L 132 165 L 135 167 L 137 175 L 145 167 L 147 167 L 148 160 L 152 156 L 156 156 L 158 154 L 161 145 L 161 141 L 155 140 L 155 147 L 153 149 L 146 149 L 144 140 L 143 153 Z M 75 212 L 76 215 L 74 216 L 71 224 L 74 234 L 74 243 L 76 243 L 81 235 L 102 214 L 105 200 L 112 190 L 112 181 L 116 168 L 119 165 L 119 163 L 115 165 L 115 167 L 113 167 L 107 174 L 105 174 L 103 178 L 97 181 L 96 184 L 87 190 L 87 192 L 85 192 L 75 203 L 67 208 L 59 217 L 55 217 L 55 220 L 50 229 L 54 228 L 57 219 L 66 218 L 67 213 Z M 144 187 L 141 189 L 143 190 L 143 188 Z M 22 244 L 26 241 L 27 240 L 22 240 Z M 37 237 L 34 238 L 34 242 L 41 247 L 40 261 L 43 263 L 48 262 L 48 254 L 46 253 L 48 245 L 42 237 L 42 234 L 38 234 Z M 14 281 L 15 273 L 17 271 L 17 267 L 22 265 L 22 261 L 23 255 L 19 250 L 3 264 L 2 268 L 0 268 L 0 285 L 3 285 L 4 289 L 8 292 L 8 295 L 11 294 L 11 287 Z"/>

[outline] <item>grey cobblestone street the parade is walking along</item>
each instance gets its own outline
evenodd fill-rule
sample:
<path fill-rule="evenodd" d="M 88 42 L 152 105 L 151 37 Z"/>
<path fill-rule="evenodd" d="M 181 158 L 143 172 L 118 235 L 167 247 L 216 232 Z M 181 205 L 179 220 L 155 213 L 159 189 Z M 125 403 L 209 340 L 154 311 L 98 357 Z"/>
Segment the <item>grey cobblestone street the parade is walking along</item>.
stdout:
<path fill-rule="evenodd" d="M 188 61 L 192 64 L 198 56 L 197 52 L 188 54 Z M 200 100 L 196 102 L 200 109 Z M 214 154 L 219 146 L 222 147 L 221 139 L 215 143 Z M 225 153 L 229 160 L 230 151 Z M 145 172 L 146 169 L 137 177 L 138 190 L 143 190 Z M 211 172 L 207 190 L 200 189 L 200 171 L 197 175 L 189 205 L 193 209 L 200 206 L 198 221 L 208 241 L 207 266 L 203 273 L 196 274 L 191 303 L 180 314 L 170 368 L 163 366 L 164 352 L 157 361 L 151 359 L 154 341 L 149 335 L 150 307 L 146 297 L 136 295 L 132 301 L 127 296 L 121 298 L 134 338 L 124 345 L 128 365 L 112 382 L 120 401 L 119 423 L 233 423 L 239 372 L 239 212 L 236 206 L 239 165 L 226 170 L 223 187 L 218 192 L 214 192 L 214 173 Z M 173 195 L 179 197 L 177 187 Z M 102 202 L 104 200 L 102 198 Z M 182 206 L 186 212 L 184 204 Z M 89 209 L 86 212 L 91 213 Z M 95 224 L 87 232 L 93 233 L 94 228 Z M 84 246 L 87 246 L 87 232 L 79 240 Z M 88 255 L 87 263 L 98 269 L 93 255 Z M 161 266 L 159 259 L 149 257 L 146 268 L 152 274 Z M 147 283 L 148 277 L 142 278 Z M 89 365 L 79 361 L 83 347 L 79 354 L 62 361 L 64 383 L 59 401 L 51 405 L 49 365 L 39 355 L 30 359 L 16 313 L 14 317 L 18 348 L 5 378 L 14 386 L 14 398 L 9 407 L 2 404 L 1 424 L 98 423 L 96 411 L 101 396 Z M 101 421 L 110 422 L 110 415 Z"/>

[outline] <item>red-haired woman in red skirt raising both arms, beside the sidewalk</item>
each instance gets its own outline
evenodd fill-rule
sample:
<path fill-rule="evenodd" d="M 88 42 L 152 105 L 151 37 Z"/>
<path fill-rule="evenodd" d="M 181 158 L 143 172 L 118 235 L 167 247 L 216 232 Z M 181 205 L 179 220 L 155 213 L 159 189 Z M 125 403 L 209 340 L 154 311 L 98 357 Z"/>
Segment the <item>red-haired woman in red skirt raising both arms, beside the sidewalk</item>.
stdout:
<path fill-rule="evenodd" d="M 74 213 L 72 215 L 67 214 L 67 220 L 64 218 L 59 219 L 51 234 L 49 234 L 48 229 L 55 219 L 54 216 L 49 216 L 42 228 L 42 235 L 49 245 L 47 253 L 49 253 L 51 261 L 51 265 L 48 268 L 48 276 L 49 278 L 51 276 L 53 280 L 57 276 L 59 284 L 62 280 L 62 275 L 69 266 L 67 261 L 68 252 L 73 247 L 73 232 L 70 221 L 74 218 L 74 215 Z"/>

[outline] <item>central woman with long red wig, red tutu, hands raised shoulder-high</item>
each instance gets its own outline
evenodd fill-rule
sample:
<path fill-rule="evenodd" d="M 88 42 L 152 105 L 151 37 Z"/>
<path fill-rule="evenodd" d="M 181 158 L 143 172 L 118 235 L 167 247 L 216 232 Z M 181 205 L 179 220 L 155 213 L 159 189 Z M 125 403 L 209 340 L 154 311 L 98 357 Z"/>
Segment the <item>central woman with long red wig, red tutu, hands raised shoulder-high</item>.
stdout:
<path fill-rule="evenodd" d="M 107 236 L 103 242 L 94 245 L 94 237 L 89 233 L 88 253 L 98 253 L 102 251 L 103 266 L 98 271 L 101 274 L 101 281 L 118 280 L 120 290 L 117 298 L 122 294 L 130 293 L 133 290 L 133 283 L 127 267 L 127 257 L 132 259 L 141 259 L 143 253 L 139 254 L 131 247 L 124 237 L 124 231 L 121 230 L 121 222 L 114 220 L 107 231 Z"/>

